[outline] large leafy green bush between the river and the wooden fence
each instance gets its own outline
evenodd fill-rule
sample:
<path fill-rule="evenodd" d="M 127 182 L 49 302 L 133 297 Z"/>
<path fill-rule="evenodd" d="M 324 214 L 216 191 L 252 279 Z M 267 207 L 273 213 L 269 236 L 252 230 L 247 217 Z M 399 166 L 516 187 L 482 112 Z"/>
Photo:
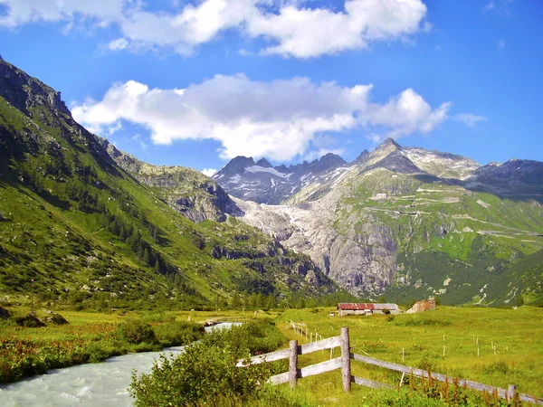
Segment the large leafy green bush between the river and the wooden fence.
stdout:
<path fill-rule="evenodd" d="M 136 406 L 235 405 L 224 403 L 227 399 L 239 400 L 237 405 L 243 405 L 243 401 L 266 392 L 262 383 L 270 377 L 272 366 L 240 368 L 236 367 L 237 361 L 258 351 L 274 350 L 285 339 L 269 320 L 214 330 L 188 345 L 175 359 L 161 356 L 151 374 L 133 374 L 130 395 L 136 399 Z"/>

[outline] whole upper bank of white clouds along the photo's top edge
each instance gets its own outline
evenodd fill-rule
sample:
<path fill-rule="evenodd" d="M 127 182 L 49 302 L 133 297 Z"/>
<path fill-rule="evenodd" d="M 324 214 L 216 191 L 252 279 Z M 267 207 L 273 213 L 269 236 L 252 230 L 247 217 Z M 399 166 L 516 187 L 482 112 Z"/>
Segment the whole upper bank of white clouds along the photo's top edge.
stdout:
<path fill-rule="evenodd" d="M 111 50 L 167 47 L 183 55 L 235 29 L 267 40 L 262 53 L 318 57 L 366 48 L 375 41 L 405 39 L 431 26 L 422 0 L 345 0 L 344 10 L 304 7 L 304 0 L 204 0 L 177 13 L 150 12 L 135 0 L 0 0 L 0 26 L 93 20 L 114 23 L 121 38 Z M 121 41 L 124 40 L 124 41 Z"/>

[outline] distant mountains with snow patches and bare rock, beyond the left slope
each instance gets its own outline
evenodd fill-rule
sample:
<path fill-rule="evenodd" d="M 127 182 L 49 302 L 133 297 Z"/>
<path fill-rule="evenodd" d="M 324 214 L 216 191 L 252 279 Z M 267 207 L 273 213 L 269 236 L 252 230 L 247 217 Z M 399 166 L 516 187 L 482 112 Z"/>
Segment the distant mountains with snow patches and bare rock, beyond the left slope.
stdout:
<path fill-rule="evenodd" d="M 213 178 L 235 197 L 240 219 L 308 254 L 353 294 L 541 300 L 541 267 L 510 278 L 543 249 L 538 161 L 481 166 L 387 139 L 352 163 L 329 154 L 274 167 L 240 156 Z"/>

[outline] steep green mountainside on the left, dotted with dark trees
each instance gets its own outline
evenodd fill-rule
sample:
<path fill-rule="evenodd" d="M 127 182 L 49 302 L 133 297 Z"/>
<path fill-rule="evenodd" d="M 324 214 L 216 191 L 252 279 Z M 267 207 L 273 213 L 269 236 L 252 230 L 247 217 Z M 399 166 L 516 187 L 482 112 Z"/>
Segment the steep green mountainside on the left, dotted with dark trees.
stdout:
<path fill-rule="evenodd" d="M 58 92 L 3 61 L 0 78 L 0 296 L 147 307 L 333 289 L 254 228 L 187 220 L 117 166 Z"/>

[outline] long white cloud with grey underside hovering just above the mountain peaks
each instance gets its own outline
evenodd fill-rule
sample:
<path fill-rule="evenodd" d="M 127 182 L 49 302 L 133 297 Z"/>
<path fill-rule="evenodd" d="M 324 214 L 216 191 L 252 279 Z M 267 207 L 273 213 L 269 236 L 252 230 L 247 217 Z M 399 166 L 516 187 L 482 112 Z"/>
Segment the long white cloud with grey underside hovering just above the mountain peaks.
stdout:
<path fill-rule="evenodd" d="M 331 151 L 322 144 L 324 133 L 353 128 L 383 137 L 429 133 L 451 107 L 447 102 L 432 109 L 411 89 L 376 104 L 370 101 L 371 90 L 372 85 L 348 88 L 307 78 L 254 81 L 243 74 L 217 75 L 185 90 L 149 89 L 129 80 L 111 86 L 100 101 L 76 104 L 72 113 L 100 134 L 124 119 L 148 128 L 156 144 L 208 138 L 221 143 L 223 158 L 290 161 L 313 147 Z"/>

